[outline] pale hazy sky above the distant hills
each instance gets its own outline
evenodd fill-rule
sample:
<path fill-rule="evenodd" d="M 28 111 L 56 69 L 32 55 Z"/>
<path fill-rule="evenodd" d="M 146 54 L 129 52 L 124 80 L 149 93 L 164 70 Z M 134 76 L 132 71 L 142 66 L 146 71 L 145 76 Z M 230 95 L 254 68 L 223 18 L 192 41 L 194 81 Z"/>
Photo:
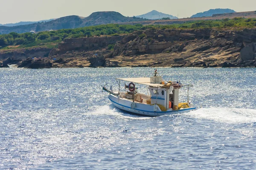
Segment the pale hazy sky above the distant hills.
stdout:
<path fill-rule="evenodd" d="M 87 17 L 96 11 L 117 11 L 132 17 L 157 10 L 183 18 L 211 8 L 256 11 L 256 0 L 0 0 L 0 23 Z"/>

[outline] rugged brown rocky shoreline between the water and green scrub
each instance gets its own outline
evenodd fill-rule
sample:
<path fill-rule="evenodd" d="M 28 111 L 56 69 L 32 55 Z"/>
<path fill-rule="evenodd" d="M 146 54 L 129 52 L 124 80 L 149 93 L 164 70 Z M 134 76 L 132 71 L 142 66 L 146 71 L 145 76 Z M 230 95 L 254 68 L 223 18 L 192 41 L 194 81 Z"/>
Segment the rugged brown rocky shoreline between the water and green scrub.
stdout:
<path fill-rule="evenodd" d="M 2 65 L 24 68 L 256 67 L 256 28 L 151 28 L 126 35 L 65 39 L 53 49 L 0 51 L 0 59 Z"/>

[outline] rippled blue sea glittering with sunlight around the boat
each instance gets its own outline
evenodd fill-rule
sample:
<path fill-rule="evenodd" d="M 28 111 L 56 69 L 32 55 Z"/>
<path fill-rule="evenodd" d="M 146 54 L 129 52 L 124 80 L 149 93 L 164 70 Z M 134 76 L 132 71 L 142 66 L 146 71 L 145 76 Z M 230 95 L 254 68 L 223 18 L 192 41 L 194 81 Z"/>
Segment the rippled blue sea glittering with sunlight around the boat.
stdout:
<path fill-rule="evenodd" d="M 173 116 L 130 115 L 102 93 L 153 72 L 0 69 L 0 169 L 256 169 L 255 68 L 159 68 L 204 107 Z"/>

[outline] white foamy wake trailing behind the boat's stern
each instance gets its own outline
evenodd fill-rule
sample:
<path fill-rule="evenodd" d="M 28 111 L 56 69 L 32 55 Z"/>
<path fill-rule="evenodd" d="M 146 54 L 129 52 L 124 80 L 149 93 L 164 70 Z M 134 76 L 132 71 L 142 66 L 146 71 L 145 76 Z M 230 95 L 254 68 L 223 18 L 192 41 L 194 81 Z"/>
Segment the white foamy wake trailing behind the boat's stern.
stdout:
<path fill-rule="evenodd" d="M 229 124 L 256 122 L 256 109 L 246 108 L 201 108 L 183 115 Z"/>

